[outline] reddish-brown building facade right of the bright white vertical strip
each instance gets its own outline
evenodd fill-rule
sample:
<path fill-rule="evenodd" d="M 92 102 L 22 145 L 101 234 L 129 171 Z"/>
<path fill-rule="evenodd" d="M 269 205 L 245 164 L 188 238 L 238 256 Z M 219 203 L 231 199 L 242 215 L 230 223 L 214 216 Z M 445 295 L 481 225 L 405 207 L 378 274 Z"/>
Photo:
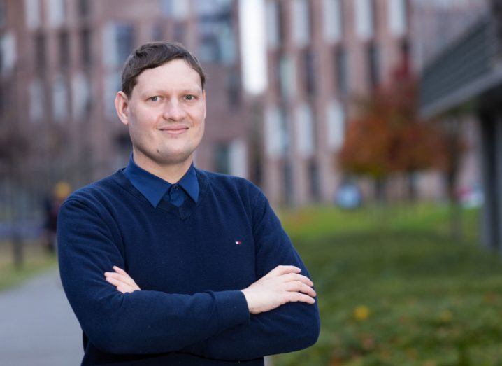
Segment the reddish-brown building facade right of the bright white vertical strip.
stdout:
<path fill-rule="evenodd" d="M 267 0 L 263 185 L 273 202 L 331 202 L 354 97 L 408 58 L 406 0 Z"/>

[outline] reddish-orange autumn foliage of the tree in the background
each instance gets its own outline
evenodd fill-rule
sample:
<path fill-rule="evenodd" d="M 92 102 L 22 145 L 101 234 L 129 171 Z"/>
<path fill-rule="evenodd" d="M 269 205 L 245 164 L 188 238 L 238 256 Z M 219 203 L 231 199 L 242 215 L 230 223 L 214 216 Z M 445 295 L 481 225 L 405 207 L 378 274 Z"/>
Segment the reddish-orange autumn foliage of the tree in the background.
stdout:
<path fill-rule="evenodd" d="M 379 179 L 444 164 L 442 134 L 419 118 L 417 92 L 415 78 L 398 70 L 391 83 L 357 101 L 359 116 L 348 123 L 338 155 L 344 171 Z"/>

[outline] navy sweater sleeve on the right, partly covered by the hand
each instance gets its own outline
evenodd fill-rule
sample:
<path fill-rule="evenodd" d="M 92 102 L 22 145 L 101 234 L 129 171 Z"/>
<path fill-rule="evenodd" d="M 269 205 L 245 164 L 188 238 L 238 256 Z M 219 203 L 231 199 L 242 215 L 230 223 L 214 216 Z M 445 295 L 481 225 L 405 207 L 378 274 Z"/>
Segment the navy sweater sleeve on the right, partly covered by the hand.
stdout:
<path fill-rule="evenodd" d="M 258 279 L 278 265 L 300 267 L 300 273 L 310 278 L 306 266 L 261 190 L 257 192 L 252 217 Z M 317 298 L 315 304 L 288 302 L 271 311 L 252 314 L 249 323 L 236 325 L 208 338 L 203 347 L 203 356 L 222 360 L 251 360 L 298 351 L 315 344 L 319 333 Z M 187 351 L 196 352 L 194 349 Z"/>

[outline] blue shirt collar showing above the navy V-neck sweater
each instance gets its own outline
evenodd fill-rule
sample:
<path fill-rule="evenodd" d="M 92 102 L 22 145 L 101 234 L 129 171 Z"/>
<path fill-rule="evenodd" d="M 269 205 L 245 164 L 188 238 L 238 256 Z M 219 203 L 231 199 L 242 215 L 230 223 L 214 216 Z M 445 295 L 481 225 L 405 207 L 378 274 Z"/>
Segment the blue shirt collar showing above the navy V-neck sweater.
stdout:
<path fill-rule="evenodd" d="M 199 181 L 197 180 L 193 162 L 177 183 L 169 183 L 138 167 L 131 153 L 129 164 L 124 169 L 124 175 L 154 207 L 157 207 L 163 197 L 178 207 L 181 206 L 187 196 L 189 199 L 193 199 L 194 202 L 199 199 Z"/>

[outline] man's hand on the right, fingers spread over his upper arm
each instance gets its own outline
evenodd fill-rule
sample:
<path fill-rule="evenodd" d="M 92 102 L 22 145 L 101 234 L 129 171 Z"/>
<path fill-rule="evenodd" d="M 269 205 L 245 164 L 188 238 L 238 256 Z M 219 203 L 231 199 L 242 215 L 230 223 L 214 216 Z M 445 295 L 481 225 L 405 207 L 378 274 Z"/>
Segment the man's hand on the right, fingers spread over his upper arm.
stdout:
<path fill-rule="evenodd" d="M 259 314 L 280 307 L 287 302 L 314 304 L 314 283 L 299 274 L 295 266 L 280 265 L 242 290 L 251 314 Z"/>

